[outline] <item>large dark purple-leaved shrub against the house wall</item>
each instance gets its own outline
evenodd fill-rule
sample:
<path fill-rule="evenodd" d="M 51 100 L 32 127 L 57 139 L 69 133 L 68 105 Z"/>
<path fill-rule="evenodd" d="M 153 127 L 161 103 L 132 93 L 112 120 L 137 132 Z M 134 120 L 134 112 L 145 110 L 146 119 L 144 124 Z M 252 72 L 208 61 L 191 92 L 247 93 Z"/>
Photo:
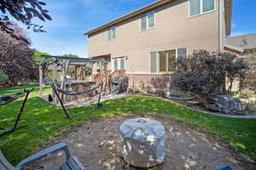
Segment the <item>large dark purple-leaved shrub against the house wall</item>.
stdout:
<path fill-rule="evenodd" d="M 178 58 L 176 66 L 173 81 L 177 87 L 200 96 L 229 94 L 236 79 L 245 81 L 248 68 L 247 62 L 234 54 L 206 50 L 196 50 L 187 58 Z M 225 90 L 226 80 L 230 82 L 228 91 Z"/>

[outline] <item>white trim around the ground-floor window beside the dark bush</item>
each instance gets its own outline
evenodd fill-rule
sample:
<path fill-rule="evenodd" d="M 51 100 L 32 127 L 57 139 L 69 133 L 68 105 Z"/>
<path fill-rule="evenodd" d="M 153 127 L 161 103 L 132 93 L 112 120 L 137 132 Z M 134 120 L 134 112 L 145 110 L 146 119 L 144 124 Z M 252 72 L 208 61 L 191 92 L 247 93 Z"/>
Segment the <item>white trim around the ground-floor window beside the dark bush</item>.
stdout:
<path fill-rule="evenodd" d="M 180 47 L 182 48 L 182 47 Z M 183 47 L 184 48 L 184 47 Z M 176 53 L 176 56 L 175 56 L 175 59 L 177 61 L 177 48 L 172 48 L 172 49 L 163 49 L 163 50 L 157 50 L 157 51 L 151 51 L 150 53 L 153 53 L 153 52 L 156 52 L 156 72 L 151 72 L 150 69 L 151 69 L 151 59 L 150 59 L 150 53 L 149 53 L 149 73 L 151 74 L 166 74 L 166 73 L 172 73 L 173 71 L 160 71 L 160 66 L 159 66 L 159 53 L 160 52 L 164 52 L 164 51 L 171 51 L 171 50 L 174 50 L 175 49 L 175 53 Z M 188 56 L 189 52 L 188 52 L 188 48 L 186 50 L 186 57 Z M 168 69 L 168 62 L 166 62 L 166 65 L 167 65 L 167 69 Z"/>

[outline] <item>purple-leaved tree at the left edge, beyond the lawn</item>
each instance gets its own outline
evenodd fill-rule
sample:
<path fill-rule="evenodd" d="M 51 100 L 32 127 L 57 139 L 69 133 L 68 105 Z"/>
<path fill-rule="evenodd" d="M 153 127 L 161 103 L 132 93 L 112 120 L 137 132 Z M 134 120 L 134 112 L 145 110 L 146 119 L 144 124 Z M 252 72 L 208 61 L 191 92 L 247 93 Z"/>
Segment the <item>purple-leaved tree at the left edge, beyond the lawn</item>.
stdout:
<path fill-rule="evenodd" d="M 16 35 L 26 38 L 26 41 L 18 41 L 8 33 L 0 31 L 0 70 L 8 75 L 12 84 L 21 80 L 38 79 L 38 69 L 33 68 L 33 50 L 29 48 L 30 40 L 26 32 L 16 25 L 12 29 Z"/>

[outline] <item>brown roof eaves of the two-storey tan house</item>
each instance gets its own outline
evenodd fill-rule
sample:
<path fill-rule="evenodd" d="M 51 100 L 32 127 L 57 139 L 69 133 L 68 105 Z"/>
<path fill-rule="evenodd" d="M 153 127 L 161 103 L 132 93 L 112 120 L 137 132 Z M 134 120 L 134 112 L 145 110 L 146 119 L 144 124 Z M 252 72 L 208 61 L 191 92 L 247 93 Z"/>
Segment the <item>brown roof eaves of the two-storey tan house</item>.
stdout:
<path fill-rule="evenodd" d="M 136 17 L 137 15 L 140 15 L 140 14 L 144 14 L 144 13 L 148 12 L 149 10 L 153 10 L 154 8 L 158 8 L 167 3 L 171 3 L 172 1 L 176 1 L 176 0 L 157 0 L 156 2 L 150 3 L 143 8 L 138 8 L 137 10 L 131 12 L 130 14 L 125 14 L 124 16 L 121 16 L 116 20 L 110 21 L 103 26 L 99 26 L 93 30 L 87 31 L 84 33 L 84 35 L 90 35 L 90 34 L 96 33 L 97 31 L 102 31 L 102 30 L 104 30 L 110 26 L 114 26 L 122 21 L 129 20 L 129 19 Z M 224 0 L 224 8 L 225 8 L 226 34 L 230 35 L 231 18 L 232 18 L 232 0 Z"/>

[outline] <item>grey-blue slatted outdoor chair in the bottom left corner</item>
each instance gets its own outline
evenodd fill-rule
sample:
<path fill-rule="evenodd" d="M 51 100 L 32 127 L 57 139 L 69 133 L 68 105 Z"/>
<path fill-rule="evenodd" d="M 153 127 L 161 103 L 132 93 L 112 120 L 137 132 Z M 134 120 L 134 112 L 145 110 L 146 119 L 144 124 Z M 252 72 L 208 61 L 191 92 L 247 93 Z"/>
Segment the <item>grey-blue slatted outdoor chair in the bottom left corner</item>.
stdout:
<path fill-rule="evenodd" d="M 20 170 L 26 165 L 32 163 L 33 161 L 36 161 L 44 156 L 49 155 L 50 153 L 54 153 L 56 151 L 63 150 L 66 154 L 66 162 L 61 165 L 57 170 L 86 170 L 86 168 L 80 163 L 78 158 L 74 156 L 70 156 L 69 150 L 67 148 L 67 144 L 61 143 L 61 144 L 56 144 L 52 147 L 49 147 L 45 150 L 41 150 L 38 153 L 27 157 L 25 160 L 20 161 L 20 163 L 16 166 L 13 167 L 9 161 L 5 159 L 3 156 L 1 150 L 0 150 L 0 169 L 1 170 Z"/>

